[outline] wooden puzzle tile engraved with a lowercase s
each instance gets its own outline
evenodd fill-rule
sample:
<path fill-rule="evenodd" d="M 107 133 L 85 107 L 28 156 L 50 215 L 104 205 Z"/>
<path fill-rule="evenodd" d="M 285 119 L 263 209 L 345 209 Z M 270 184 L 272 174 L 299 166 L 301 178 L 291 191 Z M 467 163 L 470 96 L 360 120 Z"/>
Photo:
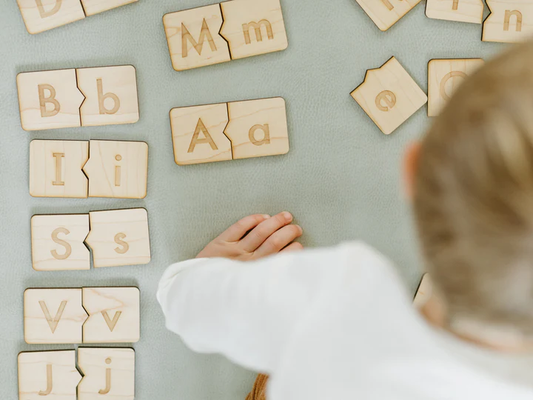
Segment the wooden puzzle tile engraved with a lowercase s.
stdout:
<path fill-rule="evenodd" d="M 91 231 L 85 242 L 95 268 L 148 264 L 150 234 L 144 208 L 89 213 Z"/>

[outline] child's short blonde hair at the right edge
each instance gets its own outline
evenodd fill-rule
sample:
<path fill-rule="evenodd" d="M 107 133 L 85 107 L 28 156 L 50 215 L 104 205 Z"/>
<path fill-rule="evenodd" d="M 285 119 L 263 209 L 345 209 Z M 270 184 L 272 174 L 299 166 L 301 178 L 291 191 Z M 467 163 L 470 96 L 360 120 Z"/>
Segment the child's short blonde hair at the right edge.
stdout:
<path fill-rule="evenodd" d="M 449 323 L 533 338 L 532 43 L 466 79 L 435 119 L 414 211 Z"/>

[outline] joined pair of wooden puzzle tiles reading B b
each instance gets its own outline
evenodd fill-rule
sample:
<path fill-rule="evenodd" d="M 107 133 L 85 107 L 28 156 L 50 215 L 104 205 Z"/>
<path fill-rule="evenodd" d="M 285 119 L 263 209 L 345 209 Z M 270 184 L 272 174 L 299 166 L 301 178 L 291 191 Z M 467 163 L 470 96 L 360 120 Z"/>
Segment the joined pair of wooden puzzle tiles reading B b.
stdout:
<path fill-rule="evenodd" d="M 26 131 L 132 124 L 139 120 L 131 65 L 23 72 L 17 75 Z"/>

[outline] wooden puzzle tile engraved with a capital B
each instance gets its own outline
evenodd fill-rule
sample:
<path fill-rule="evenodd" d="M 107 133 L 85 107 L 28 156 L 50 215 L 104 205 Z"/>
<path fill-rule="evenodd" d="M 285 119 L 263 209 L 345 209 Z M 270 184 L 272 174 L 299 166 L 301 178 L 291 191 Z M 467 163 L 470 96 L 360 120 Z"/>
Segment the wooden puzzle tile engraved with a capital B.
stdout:
<path fill-rule="evenodd" d="M 17 75 L 22 129 L 81 126 L 83 95 L 76 84 L 76 70 L 24 72 Z"/>

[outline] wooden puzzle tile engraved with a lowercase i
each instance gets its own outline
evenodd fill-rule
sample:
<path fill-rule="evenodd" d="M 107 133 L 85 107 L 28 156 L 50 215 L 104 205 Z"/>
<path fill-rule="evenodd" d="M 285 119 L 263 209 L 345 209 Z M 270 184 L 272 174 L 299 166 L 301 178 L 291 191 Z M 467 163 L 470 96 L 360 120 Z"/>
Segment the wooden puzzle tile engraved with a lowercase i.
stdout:
<path fill-rule="evenodd" d="M 148 145 L 145 142 L 91 140 L 89 197 L 143 199 L 148 180 Z"/>

